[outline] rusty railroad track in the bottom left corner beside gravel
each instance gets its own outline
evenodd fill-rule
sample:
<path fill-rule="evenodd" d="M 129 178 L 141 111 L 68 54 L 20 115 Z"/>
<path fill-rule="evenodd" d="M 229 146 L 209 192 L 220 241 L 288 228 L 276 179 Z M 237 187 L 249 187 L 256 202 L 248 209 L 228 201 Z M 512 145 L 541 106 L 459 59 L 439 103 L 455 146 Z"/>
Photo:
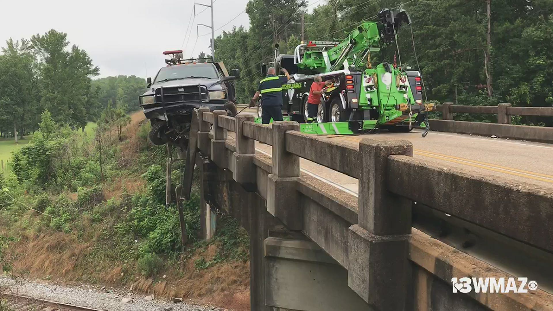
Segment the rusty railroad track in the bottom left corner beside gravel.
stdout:
<path fill-rule="evenodd" d="M 0 294 L 1 299 L 6 299 L 8 307 L 15 311 L 105 311 L 14 294 Z"/>

